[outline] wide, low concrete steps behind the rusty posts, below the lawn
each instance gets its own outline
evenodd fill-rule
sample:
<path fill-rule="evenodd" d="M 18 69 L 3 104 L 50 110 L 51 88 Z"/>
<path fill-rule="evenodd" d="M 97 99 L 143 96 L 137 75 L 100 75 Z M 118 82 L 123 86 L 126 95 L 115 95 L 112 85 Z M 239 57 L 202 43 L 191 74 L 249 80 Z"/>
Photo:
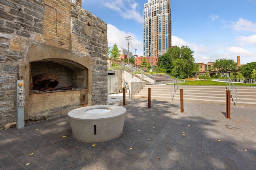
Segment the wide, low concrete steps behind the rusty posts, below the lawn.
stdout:
<path fill-rule="evenodd" d="M 146 98 L 148 88 L 151 88 L 151 98 L 158 100 L 172 100 L 171 87 L 167 85 L 144 86 L 134 98 Z M 256 107 L 256 86 L 238 86 L 238 106 Z M 180 89 L 183 89 L 184 102 L 211 102 L 215 104 L 226 104 L 226 86 L 179 86 L 173 101 L 180 101 Z M 231 89 L 230 89 L 231 90 Z M 232 95 L 232 94 L 231 94 Z M 236 90 L 233 88 L 233 100 L 236 102 Z"/>

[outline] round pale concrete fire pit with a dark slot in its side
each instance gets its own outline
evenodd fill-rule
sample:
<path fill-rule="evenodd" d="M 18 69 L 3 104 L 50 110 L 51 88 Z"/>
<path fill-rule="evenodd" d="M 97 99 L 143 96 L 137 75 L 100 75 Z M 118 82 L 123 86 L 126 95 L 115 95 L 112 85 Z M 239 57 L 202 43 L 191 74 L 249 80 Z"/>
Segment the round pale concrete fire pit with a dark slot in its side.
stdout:
<path fill-rule="evenodd" d="M 68 112 L 74 138 L 84 142 L 107 141 L 123 131 L 126 108 L 114 105 L 80 107 Z"/>

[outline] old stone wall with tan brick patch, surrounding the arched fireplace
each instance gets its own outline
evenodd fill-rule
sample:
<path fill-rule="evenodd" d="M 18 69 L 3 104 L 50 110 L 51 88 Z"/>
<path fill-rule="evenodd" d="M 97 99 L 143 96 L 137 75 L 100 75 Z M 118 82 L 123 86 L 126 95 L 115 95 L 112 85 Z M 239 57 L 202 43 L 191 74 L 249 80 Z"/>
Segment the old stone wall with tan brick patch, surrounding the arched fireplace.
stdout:
<path fill-rule="evenodd" d="M 0 0 L 0 130 L 16 121 L 16 80 L 24 80 L 26 120 L 107 104 L 106 54 L 106 23 L 70 0 Z M 86 72 L 86 89 L 32 93 L 30 66 L 38 61 Z M 51 96 L 63 100 L 53 104 Z"/>

